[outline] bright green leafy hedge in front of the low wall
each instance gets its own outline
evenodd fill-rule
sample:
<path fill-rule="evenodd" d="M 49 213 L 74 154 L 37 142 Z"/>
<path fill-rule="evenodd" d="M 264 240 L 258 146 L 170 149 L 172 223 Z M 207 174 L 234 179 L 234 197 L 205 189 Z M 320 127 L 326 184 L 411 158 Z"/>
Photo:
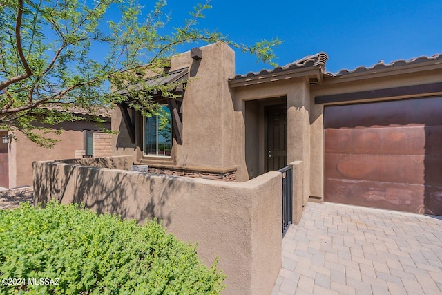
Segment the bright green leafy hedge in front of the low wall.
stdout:
<path fill-rule="evenodd" d="M 75 205 L 50 202 L 35 209 L 24 203 L 0 210 L 0 276 L 26 284 L 0 285 L 0 292 L 219 294 L 224 275 L 216 261 L 204 266 L 195 249 L 165 234 L 155 220 L 141 227 Z M 34 279 L 43 285 L 28 285 Z"/>

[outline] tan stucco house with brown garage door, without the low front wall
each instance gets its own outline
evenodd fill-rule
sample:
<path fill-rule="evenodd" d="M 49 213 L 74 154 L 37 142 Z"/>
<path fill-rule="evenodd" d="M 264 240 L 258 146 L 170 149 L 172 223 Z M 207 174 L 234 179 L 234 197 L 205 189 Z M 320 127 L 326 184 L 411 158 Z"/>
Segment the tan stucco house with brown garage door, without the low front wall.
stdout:
<path fill-rule="evenodd" d="M 120 108 L 113 155 L 236 182 L 302 161 L 303 204 L 442 214 L 442 55 L 327 73 L 318 53 L 247 75 L 234 59 L 226 44 L 173 57 L 169 81 L 191 80 L 182 99 L 163 99 L 170 151 L 157 150 L 157 119 L 126 116 L 131 137 Z"/>

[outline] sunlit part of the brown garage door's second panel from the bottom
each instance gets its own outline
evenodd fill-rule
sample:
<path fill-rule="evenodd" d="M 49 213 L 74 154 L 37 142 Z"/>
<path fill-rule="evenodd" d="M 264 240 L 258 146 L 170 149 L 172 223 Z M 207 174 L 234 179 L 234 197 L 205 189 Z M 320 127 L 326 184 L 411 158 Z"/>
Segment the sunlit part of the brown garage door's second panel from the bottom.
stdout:
<path fill-rule="evenodd" d="M 325 154 L 327 178 L 424 184 L 423 155 Z"/>

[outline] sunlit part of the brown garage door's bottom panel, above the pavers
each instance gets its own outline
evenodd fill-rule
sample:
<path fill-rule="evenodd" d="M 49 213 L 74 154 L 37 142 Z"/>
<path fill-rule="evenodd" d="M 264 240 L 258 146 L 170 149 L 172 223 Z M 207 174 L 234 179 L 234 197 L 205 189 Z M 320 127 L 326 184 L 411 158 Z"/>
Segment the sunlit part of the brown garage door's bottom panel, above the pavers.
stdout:
<path fill-rule="evenodd" d="M 327 201 L 424 213 L 424 185 L 325 178 Z M 420 196 L 420 197 L 419 197 Z"/>

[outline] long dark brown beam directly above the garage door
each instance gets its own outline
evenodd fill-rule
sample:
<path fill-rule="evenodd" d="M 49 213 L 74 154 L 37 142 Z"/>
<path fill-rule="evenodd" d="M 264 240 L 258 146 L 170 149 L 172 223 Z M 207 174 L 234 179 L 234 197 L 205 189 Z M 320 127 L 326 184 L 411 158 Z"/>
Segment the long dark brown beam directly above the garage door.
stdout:
<path fill-rule="evenodd" d="M 333 95 L 319 95 L 315 97 L 315 104 L 326 104 L 330 102 L 349 102 L 354 100 L 398 97 L 406 95 L 429 95 L 432 93 L 442 93 L 442 83 L 439 82 L 394 88 L 383 88 L 372 91 L 358 91 Z"/>

